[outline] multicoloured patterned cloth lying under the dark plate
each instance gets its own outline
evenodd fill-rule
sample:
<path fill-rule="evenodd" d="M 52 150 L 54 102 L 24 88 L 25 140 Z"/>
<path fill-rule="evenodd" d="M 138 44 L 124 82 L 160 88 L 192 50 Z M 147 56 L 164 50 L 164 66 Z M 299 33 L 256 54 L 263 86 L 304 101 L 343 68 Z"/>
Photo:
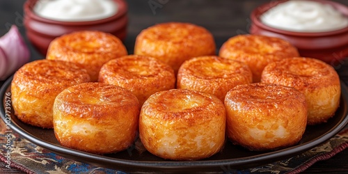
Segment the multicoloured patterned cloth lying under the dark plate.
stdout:
<path fill-rule="evenodd" d="M 345 61 L 343 66 L 336 69 L 340 74 L 340 78 L 348 84 L 348 68 Z M 7 133 L 6 125 L 0 121 L 0 166 L 3 173 L 6 170 L 23 171 L 24 173 L 123 173 L 122 171 L 114 171 L 108 168 L 100 168 L 90 164 L 84 164 L 73 161 L 65 157 L 49 152 L 39 146 L 26 141 L 15 132 Z M 10 142 L 10 145 L 6 145 Z M 276 161 L 272 164 L 259 166 L 256 168 L 248 168 L 240 173 L 299 173 L 306 170 L 316 161 L 329 159 L 333 155 L 348 148 L 348 125 L 342 131 L 331 138 L 329 141 L 296 155 L 289 159 Z M 8 157 L 8 150 L 11 150 Z M 10 159 L 10 161 L 8 161 Z M 1 171 L 0 171 L 1 173 Z"/>

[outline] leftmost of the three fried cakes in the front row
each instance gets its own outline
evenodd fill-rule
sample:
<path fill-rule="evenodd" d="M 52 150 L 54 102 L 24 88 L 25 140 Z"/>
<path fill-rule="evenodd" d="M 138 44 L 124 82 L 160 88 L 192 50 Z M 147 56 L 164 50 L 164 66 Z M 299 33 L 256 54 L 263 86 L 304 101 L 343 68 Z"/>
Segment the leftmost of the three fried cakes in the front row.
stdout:
<path fill-rule="evenodd" d="M 61 145 L 105 154 L 132 145 L 140 106 L 124 88 L 84 83 L 63 90 L 54 102 L 54 134 Z"/>

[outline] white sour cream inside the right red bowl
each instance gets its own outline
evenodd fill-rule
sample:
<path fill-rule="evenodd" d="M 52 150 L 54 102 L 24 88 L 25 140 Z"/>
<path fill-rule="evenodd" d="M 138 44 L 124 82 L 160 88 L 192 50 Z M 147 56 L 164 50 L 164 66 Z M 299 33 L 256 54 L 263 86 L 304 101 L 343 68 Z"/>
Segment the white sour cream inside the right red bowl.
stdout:
<path fill-rule="evenodd" d="M 324 32 L 348 26 L 348 17 L 329 4 L 292 0 L 280 3 L 260 17 L 261 22 L 286 31 Z"/>

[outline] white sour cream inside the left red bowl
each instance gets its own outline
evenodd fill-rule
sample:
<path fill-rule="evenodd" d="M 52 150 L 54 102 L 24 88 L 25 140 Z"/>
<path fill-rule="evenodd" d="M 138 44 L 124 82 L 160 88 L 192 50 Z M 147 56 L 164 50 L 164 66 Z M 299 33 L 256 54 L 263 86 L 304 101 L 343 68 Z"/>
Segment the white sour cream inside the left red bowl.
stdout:
<path fill-rule="evenodd" d="M 112 0 L 40 0 L 33 10 L 46 19 L 82 22 L 111 17 L 118 4 Z"/>

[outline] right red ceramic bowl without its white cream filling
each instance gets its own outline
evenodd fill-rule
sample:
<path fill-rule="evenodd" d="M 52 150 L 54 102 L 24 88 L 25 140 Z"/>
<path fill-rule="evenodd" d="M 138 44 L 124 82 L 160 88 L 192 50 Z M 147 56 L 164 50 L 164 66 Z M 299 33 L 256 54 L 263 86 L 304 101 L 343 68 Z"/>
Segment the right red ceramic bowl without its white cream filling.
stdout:
<path fill-rule="evenodd" d="M 297 47 L 301 56 L 318 58 L 331 65 L 342 61 L 345 57 L 348 57 L 348 27 L 329 32 L 301 33 L 275 29 L 260 21 L 262 13 L 278 5 L 278 3 L 283 3 L 285 1 L 287 0 L 271 1 L 270 3 L 266 3 L 253 10 L 251 13 L 252 24 L 250 33 L 283 38 Z M 348 7 L 345 5 L 333 1 L 315 1 L 330 4 L 348 17 Z"/>

